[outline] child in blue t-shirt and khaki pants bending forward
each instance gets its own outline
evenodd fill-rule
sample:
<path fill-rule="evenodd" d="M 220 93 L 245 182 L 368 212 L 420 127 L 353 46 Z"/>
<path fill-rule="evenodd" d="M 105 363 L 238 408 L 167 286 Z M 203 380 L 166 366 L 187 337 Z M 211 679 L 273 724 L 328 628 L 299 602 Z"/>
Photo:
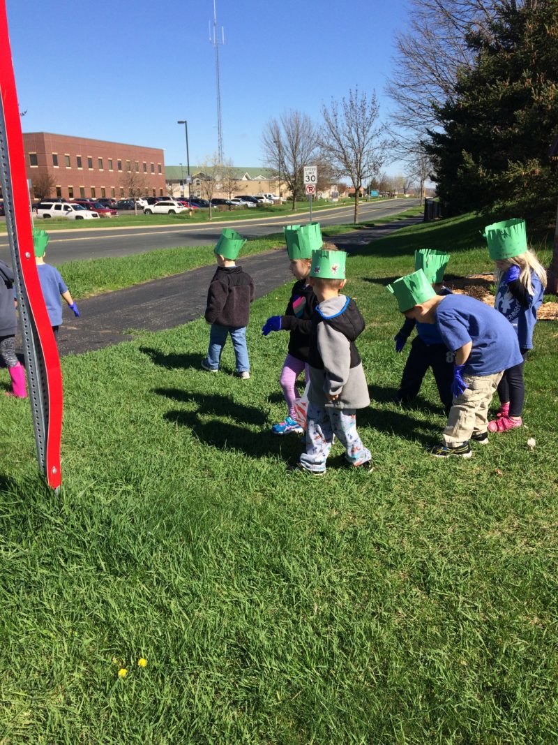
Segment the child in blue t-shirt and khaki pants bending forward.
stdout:
<path fill-rule="evenodd" d="M 487 413 L 502 373 L 520 364 L 516 333 L 484 302 L 466 295 L 437 295 L 422 269 L 397 279 L 388 290 L 405 317 L 437 326 L 443 343 L 455 352 L 452 408 L 435 457 L 470 457 L 469 440 L 488 441 Z"/>

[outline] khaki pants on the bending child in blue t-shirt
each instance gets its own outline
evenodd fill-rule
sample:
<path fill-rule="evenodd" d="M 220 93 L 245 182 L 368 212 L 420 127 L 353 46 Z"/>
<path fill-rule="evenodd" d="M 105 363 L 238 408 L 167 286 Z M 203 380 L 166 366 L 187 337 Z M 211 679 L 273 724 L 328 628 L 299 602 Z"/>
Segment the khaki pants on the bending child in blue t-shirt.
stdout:
<path fill-rule="evenodd" d="M 453 399 L 448 421 L 443 430 L 443 443 L 454 447 L 470 440 L 473 432 L 487 431 L 488 407 L 504 373 L 464 375 L 467 388 Z"/>

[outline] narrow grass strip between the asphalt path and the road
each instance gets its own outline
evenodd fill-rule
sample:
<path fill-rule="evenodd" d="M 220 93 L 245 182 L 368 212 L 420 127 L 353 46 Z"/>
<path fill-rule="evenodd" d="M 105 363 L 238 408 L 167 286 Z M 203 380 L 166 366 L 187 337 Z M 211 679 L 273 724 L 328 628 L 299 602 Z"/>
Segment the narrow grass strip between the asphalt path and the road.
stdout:
<path fill-rule="evenodd" d="M 417 210 L 411 209 L 401 215 L 391 215 L 382 218 L 382 222 L 397 222 L 409 215 L 416 215 Z M 380 223 L 350 223 L 348 225 L 328 226 L 322 234 L 325 238 L 350 232 Z M 285 241 L 282 232 L 272 233 L 266 238 L 248 240 L 243 247 L 243 256 L 269 251 L 273 248 L 283 248 Z M 125 287 L 148 282 L 150 279 L 178 274 L 197 267 L 213 264 L 215 256 L 212 246 L 166 248 L 146 253 L 136 253 L 133 256 L 122 256 L 114 259 L 87 259 L 86 261 L 65 261 L 58 264 L 71 294 L 76 299 L 97 295 L 109 290 L 121 290 Z"/>

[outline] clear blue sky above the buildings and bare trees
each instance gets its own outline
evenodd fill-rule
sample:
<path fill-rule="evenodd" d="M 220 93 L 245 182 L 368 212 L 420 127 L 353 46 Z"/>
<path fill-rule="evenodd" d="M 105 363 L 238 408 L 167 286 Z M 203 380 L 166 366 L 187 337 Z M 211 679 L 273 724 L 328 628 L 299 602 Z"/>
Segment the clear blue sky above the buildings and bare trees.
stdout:
<path fill-rule="evenodd" d="M 213 0 L 7 0 L 24 132 L 165 149 L 165 163 L 217 150 Z M 405 1 L 217 0 L 222 136 L 234 165 L 263 165 L 269 118 L 374 89 L 381 115 Z M 392 165 L 386 170 L 397 171 Z"/>

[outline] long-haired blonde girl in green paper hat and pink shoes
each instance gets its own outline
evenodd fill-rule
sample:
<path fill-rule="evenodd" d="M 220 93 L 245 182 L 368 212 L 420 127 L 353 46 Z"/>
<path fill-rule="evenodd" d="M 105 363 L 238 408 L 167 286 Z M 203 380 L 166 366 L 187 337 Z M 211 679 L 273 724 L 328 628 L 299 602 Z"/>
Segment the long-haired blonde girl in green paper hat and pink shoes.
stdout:
<path fill-rule="evenodd" d="M 523 366 L 529 349 L 533 349 L 533 328 L 545 292 L 546 272 L 534 253 L 527 249 L 524 220 L 488 225 L 484 237 L 490 258 L 496 262 L 494 306 L 511 323 L 522 354 L 518 365 L 504 371 L 498 384 L 500 410 L 496 419 L 488 422 L 490 432 L 506 432 L 523 423 Z"/>

